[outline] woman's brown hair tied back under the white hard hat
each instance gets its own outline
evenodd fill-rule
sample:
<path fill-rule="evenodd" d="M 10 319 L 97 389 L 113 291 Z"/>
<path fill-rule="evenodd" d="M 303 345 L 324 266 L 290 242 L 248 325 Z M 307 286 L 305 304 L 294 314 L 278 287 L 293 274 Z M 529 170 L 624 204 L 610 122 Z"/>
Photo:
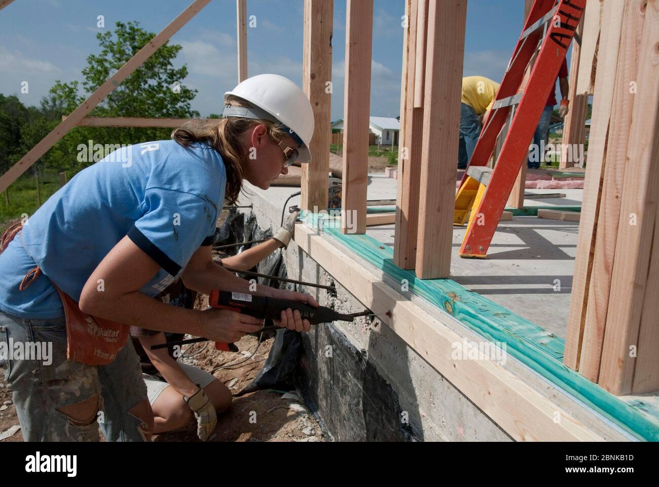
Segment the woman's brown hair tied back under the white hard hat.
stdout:
<path fill-rule="evenodd" d="M 249 102 L 236 96 L 229 96 L 225 104 L 253 108 Z M 222 156 L 227 171 L 227 187 L 224 201 L 227 205 L 235 205 L 243 188 L 243 160 L 247 157 L 241 146 L 240 137 L 254 125 L 265 125 L 268 135 L 280 142 L 285 136 L 281 125 L 270 120 L 254 120 L 249 118 L 228 117 L 208 123 L 186 123 L 171 133 L 171 138 L 184 147 L 195 142 L 203 142 L 211 146 Z"/>

